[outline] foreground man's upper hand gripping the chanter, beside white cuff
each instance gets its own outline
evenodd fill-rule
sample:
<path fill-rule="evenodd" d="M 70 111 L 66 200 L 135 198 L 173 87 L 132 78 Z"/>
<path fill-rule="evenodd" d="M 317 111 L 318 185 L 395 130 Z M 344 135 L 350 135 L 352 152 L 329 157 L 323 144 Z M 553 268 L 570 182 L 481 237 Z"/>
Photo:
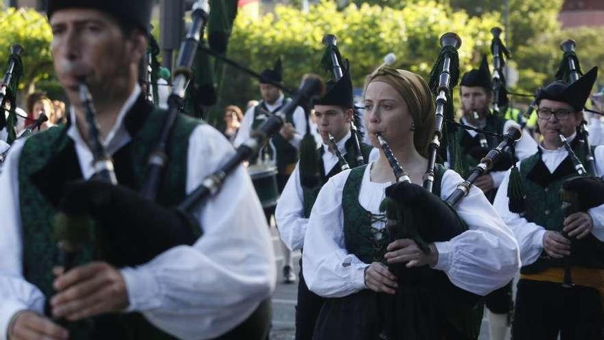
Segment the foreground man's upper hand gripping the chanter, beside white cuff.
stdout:
<path fill-rule="evenodd" d="M 106 262 L 91 262 L 59 275 L 54 288 L 60 292 L 50 304 L 54 317 L 70 321 L 128 307 L 128 291 L 121 273 Z"/>

